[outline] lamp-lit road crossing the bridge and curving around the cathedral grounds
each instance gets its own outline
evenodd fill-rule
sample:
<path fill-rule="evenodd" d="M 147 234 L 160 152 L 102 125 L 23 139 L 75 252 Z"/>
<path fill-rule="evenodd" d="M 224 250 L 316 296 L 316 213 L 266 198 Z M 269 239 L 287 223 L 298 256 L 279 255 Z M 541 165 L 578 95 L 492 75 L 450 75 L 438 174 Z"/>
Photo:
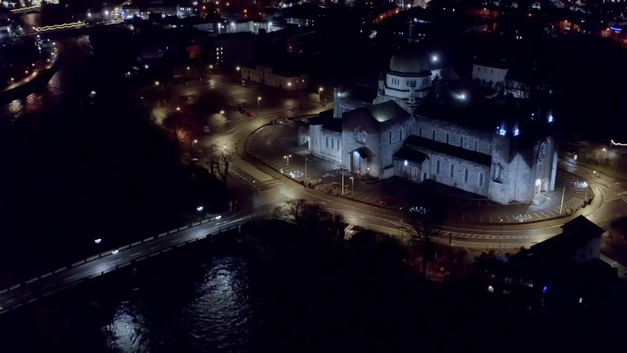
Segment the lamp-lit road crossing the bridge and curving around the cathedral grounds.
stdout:
<path fill-rule="evenodd" d="M 154 239 L 137 244 L 126 249 L 120 249 L 117 254 L 110 254 L 94 259 L 77 266 L 60 269 L 58 273 L 44 274 L 37 280 L 29 280 L 8 291 L 0 293 L 0 306 L 6 312 L 10 308 L 16 308 L 23 303 L 29 303 L 40 296 L 45 296 L 55 291 L 63 290 L 70 285 L 80 283 L 90 277 L 95 277 L 107 271 L 113 271 L 116 266 L 124 267 L 132 261 L 142 260 L 148 256 L 155 256 L 162 252 L 170 251 L 172 247 L 186 244 L 198 238 L 207 236 L 228 227 L 236 227 L 245 222 L 268 214 L 274 207 L 282 202 L 295 198 L 304 198 L 310 202 L 324 202 L 326 209 L 337 212 L 349 220 L 351 224 L 372 228 L 377 231 L 399 234 L 399 225 L 403 220 L 402 215 L 394 210 L 382 209 L 374 205 L 361 204 L 343 198 L 337 198 L 326 194 L 305 191 L 302 185 L 285 178 L 277 171 L 263 165 L 258 160 L 246 153 L 246 139 L 252 131 L 275 116 L 303 116 L 315 114 L 321 110 L 328 109 L 327 106 L 315 107 L 314 109 L 296 110 L 294 107 L 277 107 L 271 112 L 260 114 L 250 119 L 238 119 L 228 124 L 223 124 L 213 131 L 213 134 L 206 136 L 199 141 L 205 146 L 216 145 L 218 148 L 236 149 L 238 155 L 243 158 L 236 158 L 231 163 L 231 172 L 234 177 L 240 178 L 243 182 L 249 183 L 256 189 L 253 195 L 253 210 L 231 215 L 221 219 L 196 227 L 185 229 L 174 234 L 164 234 Z M 561 161 L 563 164 L 564 162 Z M 627 209 L 627 192 L 624 192 L 621 183 L 609 178 L 594 179 L 593 171 L 580 166 L 566 166 L 569 171 L 582 176 L 582 179 L 594 180 L 598 183 L 599 192 L 604 197 L 596 197 L 594 202 L 600 206 L 595 212 L 588 212 L 589 219 L 608 227 L 609 224 L 619 217 L 623 217 L 623 211 Z M 255 180 L 254 185 L 252 180 Z M 436 234 L 436 239 L 441 242 L 452 242 L 455 246 L 470 247 L 474 249 L 485 249 L 487 247 L 499 247 L 503 251 L 512 251 L 520 246 L 530 246 L 537 242 L 544 241 L 561 232 L 561 225 L 564 220 L 553 220 L 547 222 L 537 222 L 533 224 L 510 225 L 499 227 L 498 225 L 467 225 L 465 227 L 453 227 L 442 225 Z M 621 268 L 621 265 L 614 263 L 608 258 L 608 263 L 613 263 L 614 267 Z M 624 268 L 623 270 L 624 271 Z M 57 271 L 55 271 L 57 272 Z"/>

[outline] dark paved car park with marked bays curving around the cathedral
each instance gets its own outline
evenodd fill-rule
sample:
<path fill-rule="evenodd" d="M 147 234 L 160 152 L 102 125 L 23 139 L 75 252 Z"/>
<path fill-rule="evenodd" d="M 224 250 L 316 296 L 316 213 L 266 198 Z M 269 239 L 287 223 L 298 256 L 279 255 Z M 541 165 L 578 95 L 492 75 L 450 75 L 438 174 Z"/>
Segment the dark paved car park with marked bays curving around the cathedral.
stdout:
<path fill-rule="evenodd" d="M 252 134 L 247 148 L 263 163 L 298 182 L 315 184 L 319 181 L 317 189 L 322 192 L 339 195 L 344 185 L 344 197 L 363 204 L 406 212 L 411 207 L 420 207 L 421 200 L 441 201 L 449 211 L 448 222 L 500 225 L 501 222 L 517 224 L 559 219 L 579 209 L 584 198 L 593 197 L 591 188 L 574 187 L 575 182 L 581 182 L 581 178 L 564 170 L 558 170 L 556 190 L 541 197 L 535 205 L 519 202 L 501 205 L 431 180 L 419 184 L 398 176 L 381 181 L 362 180 L 361 176 L 344 171 L 342 181 L 340 166 L 334 161 L 308 156 L 305 171 L 308 150 L 305 146 L 298 146 L 296 139 L 297 129 L 270 125 Z"/>

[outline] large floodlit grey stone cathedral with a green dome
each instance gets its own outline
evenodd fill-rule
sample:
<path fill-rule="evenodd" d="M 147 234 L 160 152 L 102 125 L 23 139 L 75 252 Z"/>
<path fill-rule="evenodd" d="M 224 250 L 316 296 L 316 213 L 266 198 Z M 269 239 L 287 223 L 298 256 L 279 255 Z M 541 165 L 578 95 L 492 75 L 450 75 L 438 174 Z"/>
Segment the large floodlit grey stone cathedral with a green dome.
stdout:
<path fill-rule="evenodd" d="M 442 61 L 396 55 L 377 89 L 335 88 L 333 109 L 300 126 L 298 142 L 355 175 L 431 179 L 500 204 L 554 190 L 552 112 L 499 104 Z"/>

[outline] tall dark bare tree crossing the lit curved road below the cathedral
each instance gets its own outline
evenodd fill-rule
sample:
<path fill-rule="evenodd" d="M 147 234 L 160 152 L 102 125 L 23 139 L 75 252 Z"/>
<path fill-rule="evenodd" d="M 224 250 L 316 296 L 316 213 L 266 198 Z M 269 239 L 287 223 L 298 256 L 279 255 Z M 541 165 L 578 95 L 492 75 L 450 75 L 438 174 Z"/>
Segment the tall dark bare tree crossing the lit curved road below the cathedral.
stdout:
<path fill-rule="evenodd" d="M 407 223 L 409 227 L 409 247 L 414 256 L 419 255 L 423 259 L 423 278 L 427 277 L 427 264 L 435 260 L 436 247 L 433 243 L 435 228 L 435 210 L 427 209 L 426 212 L 413 212 L 413 217 Z"/>

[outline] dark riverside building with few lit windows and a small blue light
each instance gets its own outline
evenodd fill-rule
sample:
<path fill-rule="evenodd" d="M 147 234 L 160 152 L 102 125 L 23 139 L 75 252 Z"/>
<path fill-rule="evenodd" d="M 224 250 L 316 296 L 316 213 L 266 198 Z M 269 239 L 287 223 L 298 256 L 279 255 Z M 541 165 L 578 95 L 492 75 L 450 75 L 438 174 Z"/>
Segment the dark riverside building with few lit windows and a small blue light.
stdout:
<path fill-rule="evenodd" d="M 562 234 L 506 258 L 477 263 L 485 290 L 526 310 L 602 304 L 618 272 L 599 259 L 604 230 L 586 217 L 562 225 Z"/>

